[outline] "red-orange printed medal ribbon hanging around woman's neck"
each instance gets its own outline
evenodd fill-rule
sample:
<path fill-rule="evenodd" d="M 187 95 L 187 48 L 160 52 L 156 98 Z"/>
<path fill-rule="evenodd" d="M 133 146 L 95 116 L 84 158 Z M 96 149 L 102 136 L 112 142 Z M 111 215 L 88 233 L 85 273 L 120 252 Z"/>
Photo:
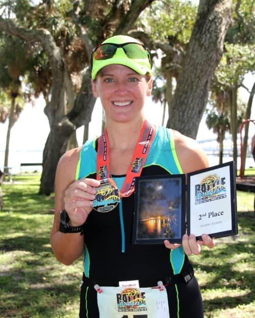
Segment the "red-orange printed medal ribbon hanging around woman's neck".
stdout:
<path fill-rule="evenodd" d="M 142 172 L 147 154 L 152 140 L 156 133 L 156 127 L 152 126 L 148 121 L 143 122 L 143 126 L 140 132 L 138 143 L 127 169 L 124 184 L 120 191 L 121 197 L 130 196 L 135 190 L 135 178 L 139 177 Z M 109 152 L 109 140 L 106 129 L 103 134 L 98 138 L 98 149 L 96 158 L 96 179 L 108 179 L 110 178 L 110 152 Z"/>

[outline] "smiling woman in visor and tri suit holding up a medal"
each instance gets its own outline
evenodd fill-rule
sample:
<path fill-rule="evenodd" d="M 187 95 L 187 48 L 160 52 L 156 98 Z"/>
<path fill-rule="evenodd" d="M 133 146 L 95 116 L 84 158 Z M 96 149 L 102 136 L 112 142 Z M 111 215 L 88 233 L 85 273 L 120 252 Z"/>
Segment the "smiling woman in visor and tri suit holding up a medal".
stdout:
<path fill-rule="evenodd" d="M 187 174 L 208 167 L 206 155 L 195 140 L 146 121 L 152 64 L 143 44 L 114 36 L 93 50 L 91 62 L 92 91 L 103 105 L 106 130 L 60 159 L 50 237 L 63 264 L 70 265 L 85 253 L 80 317 L 97 318 L 99 312 L 100 318 L 203 317 L 187 255 L 198 254 L 202 244 L 213 247 L 214 242 L 208 235 L 201 242 L 184 235 L 182 245 L 168 240 L 162 245 L 131 244 L 132 162 L 137 158 L 141 162 L 136 177 Z M 142 139 L 148 142 L 145 152 L 139 148 Z M 107 205 L 107 195 L 98 193 L 109 186 L 119 197 Z M 123 286 L 135 286 L 135 291 L 140 288 L 139 297 L 125 294 L 123 287 L 119 290 L 121 281 L 127 282 Z M 157 285 L 158 290 L 151 288 Z"/>

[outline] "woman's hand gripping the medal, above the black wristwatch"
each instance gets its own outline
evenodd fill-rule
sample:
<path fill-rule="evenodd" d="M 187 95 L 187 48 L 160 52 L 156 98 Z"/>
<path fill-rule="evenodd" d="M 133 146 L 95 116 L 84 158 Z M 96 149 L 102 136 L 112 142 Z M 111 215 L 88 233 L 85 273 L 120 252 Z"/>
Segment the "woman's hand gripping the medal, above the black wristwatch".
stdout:
<path fill-rule="evenodd" d="M 92 210 L 96 187 L 100 182 L 95 179 L 84 178 L 73 182 L 65 191 L 64 204 L 69 216 L 70 226 L 82 225 Z"/>

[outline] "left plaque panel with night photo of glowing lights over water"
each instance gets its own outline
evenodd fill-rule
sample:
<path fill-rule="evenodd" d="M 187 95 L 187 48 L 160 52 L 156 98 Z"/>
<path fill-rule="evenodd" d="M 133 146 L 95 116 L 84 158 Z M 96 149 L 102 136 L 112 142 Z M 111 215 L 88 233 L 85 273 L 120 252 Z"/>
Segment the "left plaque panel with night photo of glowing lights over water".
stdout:
<path fill-rule="evenodd" d="M 185 175 L 136 178 L 132 243 L 181 243 L 185 192 Z"/>

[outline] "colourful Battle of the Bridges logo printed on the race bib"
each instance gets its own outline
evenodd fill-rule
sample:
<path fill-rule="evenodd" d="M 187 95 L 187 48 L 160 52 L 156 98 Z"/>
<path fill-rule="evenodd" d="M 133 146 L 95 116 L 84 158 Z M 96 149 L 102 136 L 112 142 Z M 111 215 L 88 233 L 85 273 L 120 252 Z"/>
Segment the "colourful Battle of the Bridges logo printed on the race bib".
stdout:
<path fill-rule="evenodd" d="M 118 311 L 147 310 L 145 292 L 137 288 L 125 288 L 121 294 L 116 294 Z"/>

